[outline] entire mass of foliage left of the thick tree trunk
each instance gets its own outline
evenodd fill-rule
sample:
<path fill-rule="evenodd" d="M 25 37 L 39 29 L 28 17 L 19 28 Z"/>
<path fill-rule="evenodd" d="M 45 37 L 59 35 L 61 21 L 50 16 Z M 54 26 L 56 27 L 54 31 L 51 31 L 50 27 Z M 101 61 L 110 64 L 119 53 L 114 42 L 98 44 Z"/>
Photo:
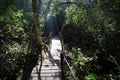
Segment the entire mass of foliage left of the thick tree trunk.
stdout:
<path fill-rule="evenodd" d="M 0 79 L 16 80 L 22 75 L 26 54 L 29 53 L 28 36 L 24 31 L 23 10 L 9 9 L 0 16 Z"/>

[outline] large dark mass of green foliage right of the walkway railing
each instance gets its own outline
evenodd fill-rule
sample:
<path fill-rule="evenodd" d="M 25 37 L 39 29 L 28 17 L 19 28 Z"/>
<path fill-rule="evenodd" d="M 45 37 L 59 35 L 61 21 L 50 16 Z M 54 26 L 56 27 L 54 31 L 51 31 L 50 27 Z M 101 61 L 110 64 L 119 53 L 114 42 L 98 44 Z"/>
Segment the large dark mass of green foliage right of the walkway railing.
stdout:
<path fill-rule="evenodd" d="M 89 73 L 83 73 L 88 80 L 119 79 L 119 1 L 112 1 L 113 3 L 110 1 L 93 1 L 89 7 L 83 4 L 80 8 L 72 5 L 66 9 L 67 25 L 63 30 L 64 42 L 70 47 L 80 47 L 87 56 L 97 57 L 85 64 L 89 65 L 90 69 Z M 77 57 L 80 56 L 76 56 L 75 60 Z M 77 63 L 80 60 L 84 63 L 84 58 L 79 59 Z M 75 69 L 79 74 L 81 69 L 77 67 Z M 80 75 L 78 76 L 81 79 Z"/>

